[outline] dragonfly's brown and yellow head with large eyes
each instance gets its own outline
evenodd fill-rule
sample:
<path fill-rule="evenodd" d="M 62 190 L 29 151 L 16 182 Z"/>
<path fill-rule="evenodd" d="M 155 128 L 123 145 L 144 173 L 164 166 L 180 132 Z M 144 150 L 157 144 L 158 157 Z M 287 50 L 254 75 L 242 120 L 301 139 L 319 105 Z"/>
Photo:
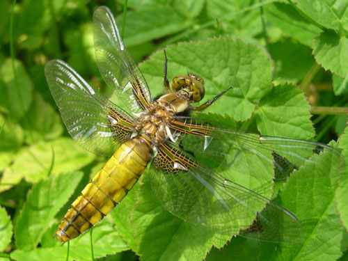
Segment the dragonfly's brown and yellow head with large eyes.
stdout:
<path fill-rule="evenodd" d="M 195 102 L 202 100 L 205 95 L 203 78 L 191 73 L 174 77 L 172 81 L 172 88 L 175 91 L 182 90 L 183 88 L 189 88 L 191 100 Z"/>

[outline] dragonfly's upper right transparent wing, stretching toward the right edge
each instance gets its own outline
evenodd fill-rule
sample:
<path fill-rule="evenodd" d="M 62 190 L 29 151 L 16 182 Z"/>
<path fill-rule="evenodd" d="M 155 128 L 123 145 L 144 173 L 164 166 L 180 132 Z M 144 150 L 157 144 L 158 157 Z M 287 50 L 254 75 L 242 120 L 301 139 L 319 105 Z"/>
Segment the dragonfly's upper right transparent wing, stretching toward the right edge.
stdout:
<path fill-rule="evenodd" d="M 327 175 L 326 166 L 312 157 L 313 154 L 326 150 L 340 158 L 340 152 L 331 146 L 314 141 L 262 136 L 203 118 L 180 117 L 177 120 L 172 129 L 181 134 L 178 142 L 184 150 L 213 168 L 234 168 L 240 175 L 268 178 L 267 171 L 260 168 L 263 162 L 273 166 L 275 178 L 282 180 L 306 161 L 311 161 L 316 164 L 319 176 L 324 176 Z M 311 173 L 308 178 L 313 178 Z"/>

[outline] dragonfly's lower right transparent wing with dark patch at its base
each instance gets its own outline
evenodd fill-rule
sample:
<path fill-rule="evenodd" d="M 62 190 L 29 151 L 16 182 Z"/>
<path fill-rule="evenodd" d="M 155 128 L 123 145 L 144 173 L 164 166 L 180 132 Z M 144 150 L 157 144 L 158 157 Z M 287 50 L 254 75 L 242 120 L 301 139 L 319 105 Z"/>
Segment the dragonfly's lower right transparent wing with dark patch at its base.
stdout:
<path fill-rule="evenodd" d="M 267 168 L 267 164 L 262 168 Z M 212 171 L 173 144 L 161 145 L 150 168 L 151 186 L 161 205 L 184 221 L 229 235 L 240 229 L 250 230 L 246 237 L 267 242 L 302 240 L 301 224 L 296 217 L 269 200 L 273 191 L 271 180 L 262 180 L 251 191 L 226 177 L 228 173 Z M 248 182 L 251 186 L 257 184 L 256 180 Z M 261 212 L 266 205 L 267 213 Z M 262 233 L 265 227 L 267 234 Z"/>

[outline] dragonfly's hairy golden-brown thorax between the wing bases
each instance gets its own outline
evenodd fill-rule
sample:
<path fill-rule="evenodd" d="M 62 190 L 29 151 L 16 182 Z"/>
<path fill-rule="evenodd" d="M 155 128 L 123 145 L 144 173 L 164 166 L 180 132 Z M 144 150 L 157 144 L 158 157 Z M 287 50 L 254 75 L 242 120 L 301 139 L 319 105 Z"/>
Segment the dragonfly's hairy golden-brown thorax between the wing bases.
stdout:
<path fill-rule="evenodd" d="M 141 113 L 136 120 L 136 132 L 158 146 L 171 136 L 170 125 L 176 113 L 187 109 L 189 102 L 178 93 L 169 93 L 159 97 Z"/>

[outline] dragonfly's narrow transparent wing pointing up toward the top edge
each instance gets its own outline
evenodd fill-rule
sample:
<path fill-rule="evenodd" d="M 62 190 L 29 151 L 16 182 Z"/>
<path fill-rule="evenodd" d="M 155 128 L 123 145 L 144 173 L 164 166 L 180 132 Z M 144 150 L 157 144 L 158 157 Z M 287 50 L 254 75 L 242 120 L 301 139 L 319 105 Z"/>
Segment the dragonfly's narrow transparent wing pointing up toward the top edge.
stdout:
<path fill-rule="evenodd" d="M 143 111 L 152 97 L 143 74 L 120 37 L 113 14 L 106 6 L 93 15 L 95 59 L 106 84 L 134 113 Z"/>

